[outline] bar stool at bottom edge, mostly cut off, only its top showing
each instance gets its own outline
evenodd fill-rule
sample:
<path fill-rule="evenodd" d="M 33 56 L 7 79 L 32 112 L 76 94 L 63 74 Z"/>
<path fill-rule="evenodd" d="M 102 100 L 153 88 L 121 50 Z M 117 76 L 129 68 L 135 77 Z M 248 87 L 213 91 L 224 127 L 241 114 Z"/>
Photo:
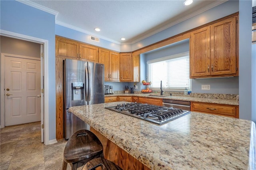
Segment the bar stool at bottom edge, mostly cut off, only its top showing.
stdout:
<path fill-rule="evenodd" d="M 104 158 L 95 158 L 85 164 L 82 170 L 122 170 L 118 165 Z"/>

